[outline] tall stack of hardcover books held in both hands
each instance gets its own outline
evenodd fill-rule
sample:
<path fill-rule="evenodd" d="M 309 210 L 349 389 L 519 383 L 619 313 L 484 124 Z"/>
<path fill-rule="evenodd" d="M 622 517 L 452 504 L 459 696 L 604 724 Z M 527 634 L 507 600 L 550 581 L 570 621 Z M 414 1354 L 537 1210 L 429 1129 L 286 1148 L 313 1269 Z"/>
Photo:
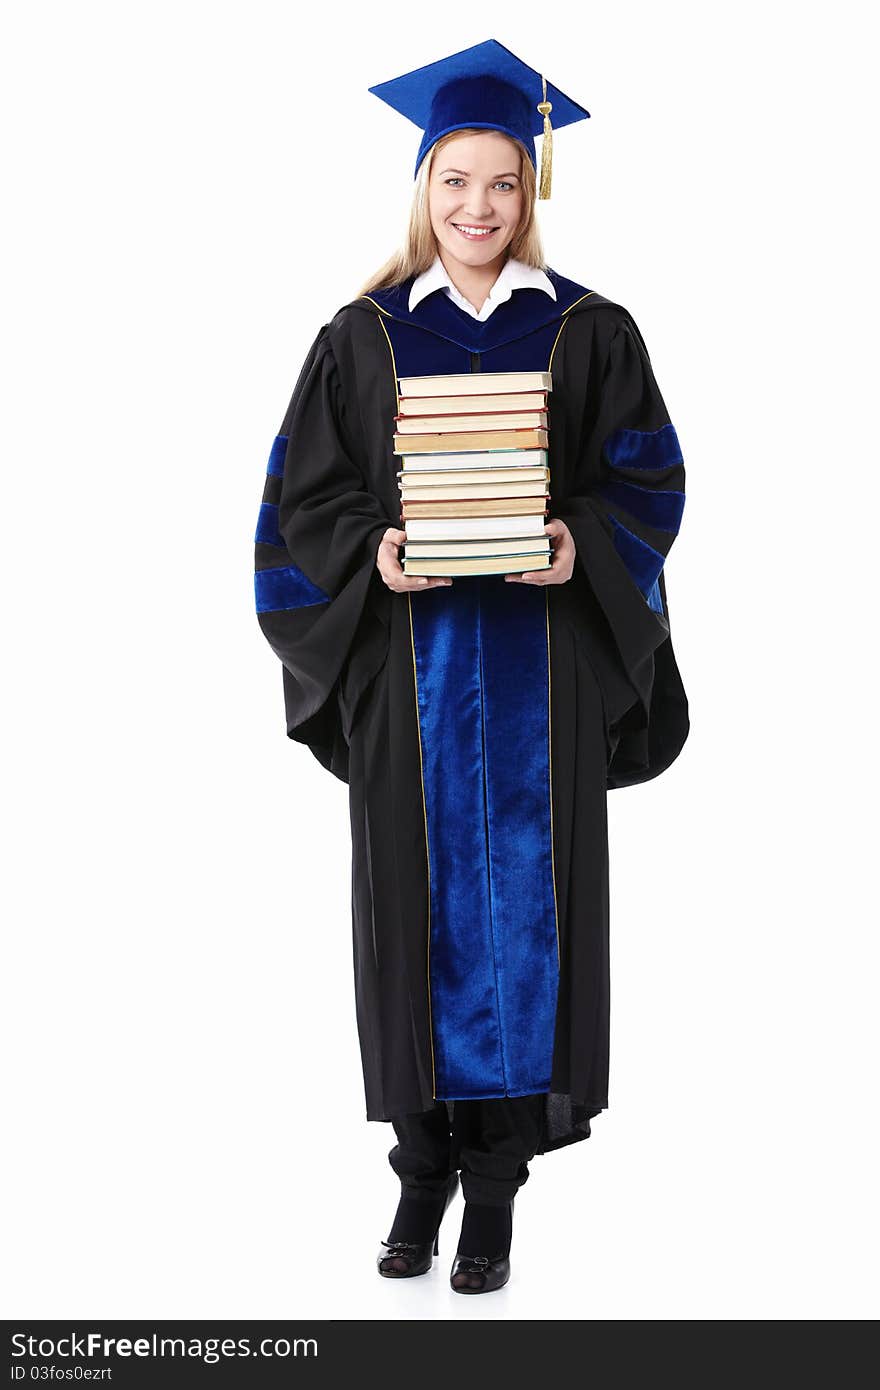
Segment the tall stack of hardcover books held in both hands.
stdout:
<path fill-rule="evenodd" d="M 546 570 L 549 371 L 400 377 L 405 574 Z"/>

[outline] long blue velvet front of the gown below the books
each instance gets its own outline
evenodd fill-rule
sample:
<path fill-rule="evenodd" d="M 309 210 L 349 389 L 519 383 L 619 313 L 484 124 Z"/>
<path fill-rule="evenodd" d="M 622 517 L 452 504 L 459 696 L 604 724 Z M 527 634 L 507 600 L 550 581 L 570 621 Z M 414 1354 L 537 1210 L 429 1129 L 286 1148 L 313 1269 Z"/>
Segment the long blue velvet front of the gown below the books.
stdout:
<path fill-rule="evenodd" d="M 500 575 L 410 595 L 438 1099 L 549 1088 L 559 948 L 546 596 Z"/>

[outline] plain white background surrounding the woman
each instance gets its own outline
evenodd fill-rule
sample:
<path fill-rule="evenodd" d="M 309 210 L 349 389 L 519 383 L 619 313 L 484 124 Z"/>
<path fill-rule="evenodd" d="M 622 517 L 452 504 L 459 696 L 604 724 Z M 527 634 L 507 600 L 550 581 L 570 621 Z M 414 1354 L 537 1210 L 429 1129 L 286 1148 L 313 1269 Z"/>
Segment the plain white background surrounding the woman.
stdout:
<path fill-rule="evenodd" d="M 7 11 L 4 1316 L 876 1315 L 869 13 Z M 375 1273 L 346 788 L 252 566 L 304 353 L 405 225 L 420 133 L 367 88 L 487 38 L 592 113 L 539 218 L 683 442 L 692 731 L 609 796 L 610 1108 L 468 1300 L 460 1198 Z"/>

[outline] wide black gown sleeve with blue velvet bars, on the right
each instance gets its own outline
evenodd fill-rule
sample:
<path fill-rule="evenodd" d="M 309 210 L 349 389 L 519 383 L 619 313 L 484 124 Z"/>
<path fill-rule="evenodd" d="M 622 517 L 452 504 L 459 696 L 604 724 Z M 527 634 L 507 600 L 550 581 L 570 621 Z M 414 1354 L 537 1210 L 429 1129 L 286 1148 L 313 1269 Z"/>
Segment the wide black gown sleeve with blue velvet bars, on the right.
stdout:
<path fill-rule="evenodd" d="M 656 776 L 687 735 L 663 566 L 684 512 L 684 460 L 648 349 L 630 316 L 610 338 L 571 489 L 553 506 L 637 696 L 617 735 L 609 787 Z"/>

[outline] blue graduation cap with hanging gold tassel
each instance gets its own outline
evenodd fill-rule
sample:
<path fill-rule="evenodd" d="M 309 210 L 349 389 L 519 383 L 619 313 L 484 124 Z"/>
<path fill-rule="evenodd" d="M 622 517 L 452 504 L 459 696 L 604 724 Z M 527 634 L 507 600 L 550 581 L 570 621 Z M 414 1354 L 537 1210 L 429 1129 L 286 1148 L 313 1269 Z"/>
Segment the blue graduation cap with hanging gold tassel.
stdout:
<path fill-rule="evenodd" d="M 424 131 L 416 174 L 442 135 L 471 126 L 502 131 L 521 140 L 537 172 L 534 139 L 542 135 L 538 197 L 551 196 L 551 111 L 556 129 L 589 115 L 496 39 L 475 43 L 368 90 Z"/>

